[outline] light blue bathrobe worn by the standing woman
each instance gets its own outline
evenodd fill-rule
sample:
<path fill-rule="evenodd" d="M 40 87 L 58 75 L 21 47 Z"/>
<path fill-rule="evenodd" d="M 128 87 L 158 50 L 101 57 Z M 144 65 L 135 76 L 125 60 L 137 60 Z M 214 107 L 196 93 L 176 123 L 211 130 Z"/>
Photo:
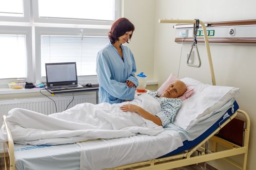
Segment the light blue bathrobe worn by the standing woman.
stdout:
<path fill-rule="evenodd" d="M 99 102 L 112 104 L 134 99 L 136 87 L 128 87 L 125 83 L 131 81 L 138 86 L 134 56 L 127 46 L 121 45 L 121 48 L 123 60 L 111 42 L 98 52 Z"/>

